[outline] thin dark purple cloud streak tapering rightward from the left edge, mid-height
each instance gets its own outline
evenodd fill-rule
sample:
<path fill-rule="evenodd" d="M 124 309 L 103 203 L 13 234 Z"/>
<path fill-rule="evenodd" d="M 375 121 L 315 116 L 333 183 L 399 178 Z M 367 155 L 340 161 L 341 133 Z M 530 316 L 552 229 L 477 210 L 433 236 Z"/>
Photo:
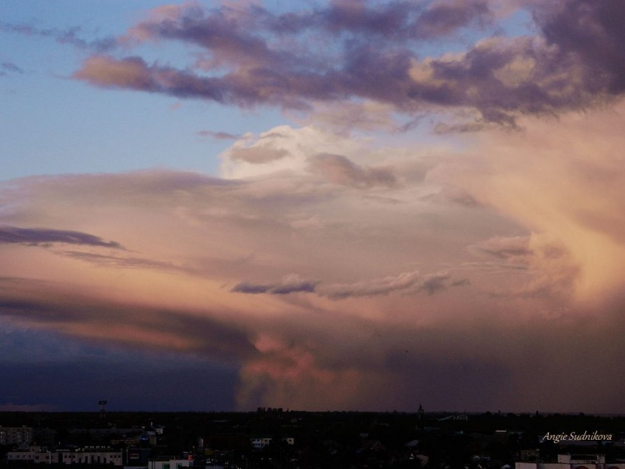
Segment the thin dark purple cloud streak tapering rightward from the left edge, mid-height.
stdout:
<path fill-rule="evenodd" d="M 50 228 L 17 228 L 15 226 L 0 225 L 0 244 L 37 246 L 49 243 L 83 244 L 86 246 L 123 249 L 115 241 L 104 241 L 93 234 L 79 231 L 52 230 Z"/>

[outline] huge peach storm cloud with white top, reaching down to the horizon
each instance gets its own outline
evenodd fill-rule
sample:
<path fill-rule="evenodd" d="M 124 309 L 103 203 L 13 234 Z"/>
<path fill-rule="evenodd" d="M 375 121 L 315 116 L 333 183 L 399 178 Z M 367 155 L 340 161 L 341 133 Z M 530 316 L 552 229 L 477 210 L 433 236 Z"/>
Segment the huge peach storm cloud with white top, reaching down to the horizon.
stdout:
<path fill-rule="evenodd" d="M 619 412 L 623 112 L 408 143 L 278 126 L 223 151 L 221 178 L 6 181 L 3 226 L 98 237 L 0 244 L 0 313 L 226 366 L 242 410 Z M 288 157 L 253 164 L 236 148 Z M 379 168 L 396 183 L 378 184 Z"/>

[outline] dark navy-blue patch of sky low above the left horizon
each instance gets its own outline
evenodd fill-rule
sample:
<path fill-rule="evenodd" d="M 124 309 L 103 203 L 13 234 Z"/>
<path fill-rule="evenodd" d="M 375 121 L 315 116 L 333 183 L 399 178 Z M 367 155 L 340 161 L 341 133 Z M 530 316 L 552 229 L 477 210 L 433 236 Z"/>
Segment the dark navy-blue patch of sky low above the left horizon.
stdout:
<path fill-rule="evenodd" d="M 128 350 L 0 318 L 0 408 L 88 411 L 102 398 L 115 411 L 234 407 L 236 367 L 167 349 Z M 119 379 L 102 379 L 110 375 Z M 158 395 L 152 392 L 156 388 Z"/>

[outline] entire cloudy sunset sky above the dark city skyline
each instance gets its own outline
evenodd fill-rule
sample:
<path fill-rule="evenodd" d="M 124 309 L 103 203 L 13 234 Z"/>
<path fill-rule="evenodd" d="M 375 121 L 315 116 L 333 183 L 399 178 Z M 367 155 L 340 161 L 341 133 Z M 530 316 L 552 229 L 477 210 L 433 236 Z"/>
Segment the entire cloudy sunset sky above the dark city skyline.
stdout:
<path fill-rule="evenodd" d="M 625 412 L 625 3 L 0 18 L 0 410 Z"/>

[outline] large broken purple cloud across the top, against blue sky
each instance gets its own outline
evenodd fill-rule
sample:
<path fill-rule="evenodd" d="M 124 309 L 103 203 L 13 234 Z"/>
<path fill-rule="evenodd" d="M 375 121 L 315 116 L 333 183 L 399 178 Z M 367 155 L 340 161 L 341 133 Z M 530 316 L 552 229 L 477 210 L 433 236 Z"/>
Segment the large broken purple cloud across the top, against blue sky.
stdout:
<path fill-rule="evenodd" d="M 536 8 L 542 34 L 534 38 L 493 36 L 456 57 L 427 60 L 420 58 L 422 38 L 444 38 L 473 22 L 490 22 L 487 2 L 434 1 L 423 8 L 337 1 L 326 10 L 286 15 L 260 7 L 176 8 L 175 14 L 138 24 L 128 37 L 202 47 L 205 56 L 196 64 L 181 70 L 140 57 L 98 55 L 73 77 L 243 107 L 305 109 L 313 101 L 366 98 L 409 113 L 427 105 L 477 110 L 478 124 L 459 131 L 479 130 L 484 122 L 515 126 L 518 114 L 582 109 L 621 94 L 625 86 L 619 47 L 625 5 L 619 1 Z M 307 27 L 295 29 L 289 21 Z M 314 34 L 329 35 L 331 44 L 309 37 Z"/>

